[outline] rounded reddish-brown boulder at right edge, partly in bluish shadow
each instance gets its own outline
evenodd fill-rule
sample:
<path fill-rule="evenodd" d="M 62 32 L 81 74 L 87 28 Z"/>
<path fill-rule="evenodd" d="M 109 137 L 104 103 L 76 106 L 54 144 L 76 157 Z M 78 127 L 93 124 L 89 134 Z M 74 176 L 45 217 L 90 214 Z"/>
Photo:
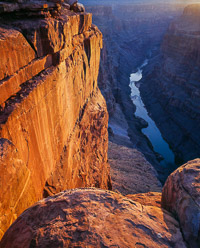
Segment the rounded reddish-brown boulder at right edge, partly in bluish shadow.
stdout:
<path fill-rule="evenodd" d="M 200 247 L 200 159 L 188 162 L 168 177 L 162 207 L 178 218 L 189 246 Z"/>

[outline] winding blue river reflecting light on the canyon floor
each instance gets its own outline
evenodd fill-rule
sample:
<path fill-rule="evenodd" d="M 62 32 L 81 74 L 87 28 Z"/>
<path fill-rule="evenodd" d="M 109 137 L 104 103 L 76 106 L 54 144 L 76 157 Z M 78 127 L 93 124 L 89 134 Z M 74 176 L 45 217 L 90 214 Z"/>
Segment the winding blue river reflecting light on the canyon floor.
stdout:
<path fill-rule="evenodd" d="M 137 72 L 130 75 L 131 99 L 136 106 L 135 116 L 142 118 L 148 123 L 148 127 L 143 128 L 142 132 L 151 142 L 154 151 L 163 157 L 160 164 L 165 167 L 171 167 L 175 163 L 174 153 L 170 149 L 168 143 L 163 139 L 156 123 L 149 116 L 141 99 L 140 90 L 137 87 L 138 82 L 142 79 L 143 67 L 147 64 L 148 60 L 146 59 L 138 68 Z"/>

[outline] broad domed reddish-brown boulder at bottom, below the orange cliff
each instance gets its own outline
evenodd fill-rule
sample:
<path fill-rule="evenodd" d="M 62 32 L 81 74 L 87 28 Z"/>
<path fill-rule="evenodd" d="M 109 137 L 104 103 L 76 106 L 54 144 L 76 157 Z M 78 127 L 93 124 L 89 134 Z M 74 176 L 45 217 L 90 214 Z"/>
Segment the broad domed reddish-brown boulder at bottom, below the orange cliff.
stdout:
<path fill-rule="evenodd" d="M 39 201 L 8 229 L 0 247 L 186 246 L 178 222 L 167 211 L 90 188 Z"/>

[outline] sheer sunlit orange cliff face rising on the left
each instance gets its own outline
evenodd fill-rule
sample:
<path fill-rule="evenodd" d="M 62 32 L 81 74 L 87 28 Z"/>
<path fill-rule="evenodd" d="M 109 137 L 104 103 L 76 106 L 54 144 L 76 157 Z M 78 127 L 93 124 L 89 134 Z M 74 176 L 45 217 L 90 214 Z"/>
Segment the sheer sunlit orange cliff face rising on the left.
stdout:
<path fill-rule="evenodd" d="M 0 236 L 43 197 L 111 187 L 101 47 L 91 14 L 0 18 Z"/>

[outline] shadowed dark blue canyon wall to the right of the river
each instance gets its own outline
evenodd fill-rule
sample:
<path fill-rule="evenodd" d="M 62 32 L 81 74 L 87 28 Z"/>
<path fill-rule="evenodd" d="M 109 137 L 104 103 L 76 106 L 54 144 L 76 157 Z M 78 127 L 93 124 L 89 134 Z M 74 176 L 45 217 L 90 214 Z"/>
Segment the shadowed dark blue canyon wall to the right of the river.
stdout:
<path fill-rule="evenodd" d="M 185 8 L 169 27 L 160 55 L 140 87 L 143 101 L 178 162 L 200 153 L 200 5 Z"/>

